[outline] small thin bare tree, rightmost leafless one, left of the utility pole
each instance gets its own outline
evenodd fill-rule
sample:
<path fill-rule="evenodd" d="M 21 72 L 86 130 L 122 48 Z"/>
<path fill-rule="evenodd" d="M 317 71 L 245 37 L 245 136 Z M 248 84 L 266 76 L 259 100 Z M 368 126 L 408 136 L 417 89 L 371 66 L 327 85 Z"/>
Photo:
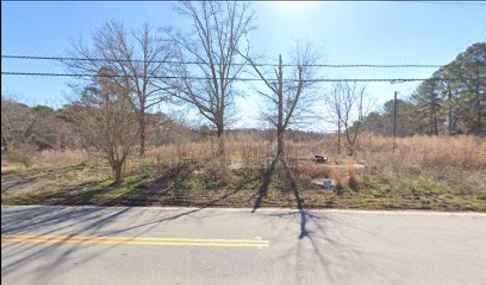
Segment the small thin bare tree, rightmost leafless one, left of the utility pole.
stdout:
<path fill-rule="evenodd" d="M 363 114 L 363 97 L 365 86 L 359 86 L 356 82 L 337 82 L 333 90 L 325 97 L 327 102 L 328 117 L 337 125 L 337 149 L 340 153 L 340 133 L 344 127 L 346 144 L 351 154 L 355 151 L 355 143 L 360 132 Z M 368 110 L 369 108 L 367 108 Z M 366 113 L 367 110 L 364 110 Z"/>

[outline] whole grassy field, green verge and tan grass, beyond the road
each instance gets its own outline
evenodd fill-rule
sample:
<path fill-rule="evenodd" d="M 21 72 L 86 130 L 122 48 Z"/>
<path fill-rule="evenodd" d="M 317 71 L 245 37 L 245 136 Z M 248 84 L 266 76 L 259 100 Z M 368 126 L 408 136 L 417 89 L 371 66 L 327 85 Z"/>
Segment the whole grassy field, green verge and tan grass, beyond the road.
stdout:
<path fill-rule="evenodd" d="M 332 137 L 289 143 L 288 167 L 277 163 L 268 179 L 267 142 L 229 140 L 226 167 L 211 159 L 209 142 L 187 143 L 131 158 L 120 185 L 112 184 L 104 160 L 82 151 L 44 151 L 28 168 L 2 159 L 1 199 L 3 205 L 199 207 L 254 207 L 259 201 L 263 207 L 296 207 L 300 200 L 306 208 L 486 211 L 484 140 L 400 138 L 394 153 L 390 145 L 389 138 L 363 134 L 348 157 L 335 153 Z M 311 162 L 312 153 L 329 154 L 329 163 Z M 321 178 L 333 179 L 333 192 L 312 183 Z M 262 188 L 268 188 L 266 197 L 260 197 Z"/>

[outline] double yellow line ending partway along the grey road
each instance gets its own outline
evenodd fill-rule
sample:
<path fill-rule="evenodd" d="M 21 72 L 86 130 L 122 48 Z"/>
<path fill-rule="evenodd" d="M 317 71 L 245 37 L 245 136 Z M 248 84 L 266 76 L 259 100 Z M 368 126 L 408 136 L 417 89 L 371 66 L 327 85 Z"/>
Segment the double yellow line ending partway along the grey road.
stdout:
<path fill-rule="evenodd" d="M 219 238 L 136 238 L 125 236 L 2 235 L 2 243 L 68 243 L 77 245 L 175 245 L 195 247 L 268 247 L 268 240 Z"/>

